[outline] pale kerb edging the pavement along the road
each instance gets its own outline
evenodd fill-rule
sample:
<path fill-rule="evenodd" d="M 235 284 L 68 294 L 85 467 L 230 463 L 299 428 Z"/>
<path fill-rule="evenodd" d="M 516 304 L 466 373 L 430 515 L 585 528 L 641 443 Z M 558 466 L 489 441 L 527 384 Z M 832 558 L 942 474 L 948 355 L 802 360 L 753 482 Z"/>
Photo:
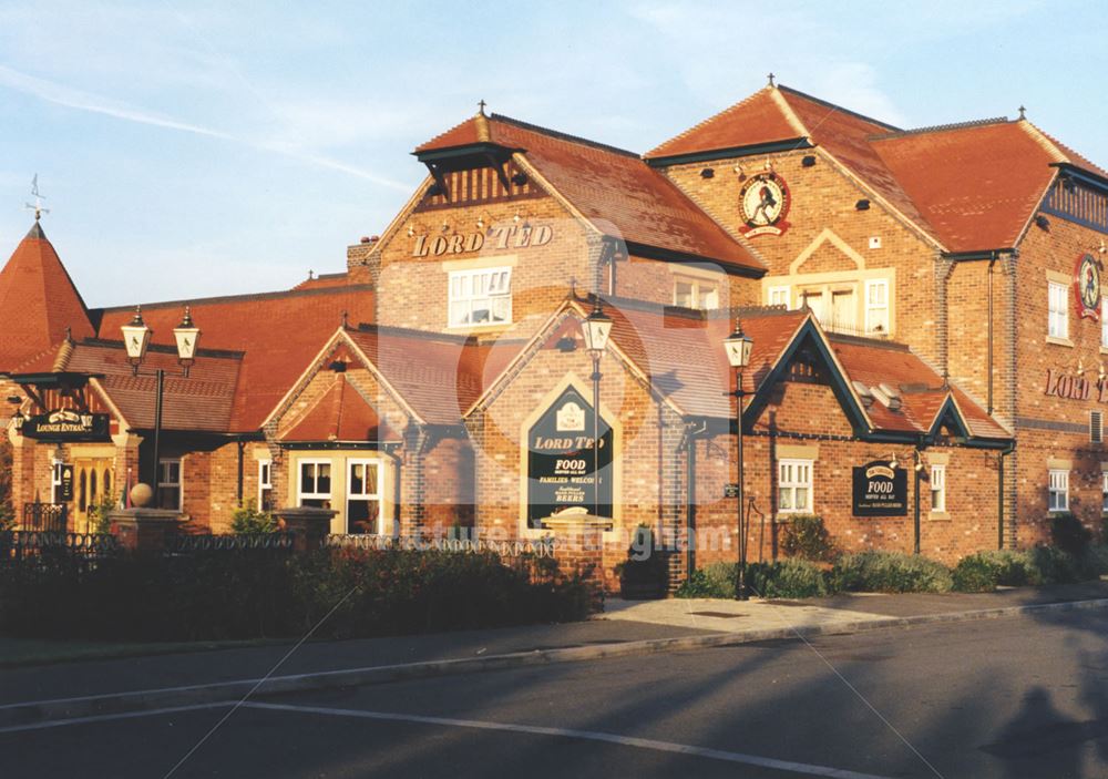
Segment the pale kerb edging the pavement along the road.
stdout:
<path fill-rule="evenodd" d="M 736 633 L 714 633 L 709 635 L 683 636 L 678 638 L 650 638 L 646 640 L 575 646 L 560 649 L 536 649 L 486 657 L 466 657 L 449 660 L 429 660 L 397 665 L 370 666 L 365 668 L 342 668 L 311 674 L 274 676 L 258 685 L 260 679 L 237 679 L 214 684 L 163 687 L 158 689 L 111 693 L 74 698 L 54 698 L 18 704 L 0 705 L 0 730 L 4 728 L 47 722 L 55 719 L 90 717 L 96 715 L 143 711 L 151 709 L 189 706 L 194 704 L 218 704 L 235 701 L 252 694 L 253 698 L 298 693 L 328 687 L 349 687 L 384 684 L 407 679 L 430 678 L 452 674 L 469 674 L 488 670 L 503 670 L 552 663 L 575 663 L 613 657 L 649 655 L 663 652 L 684 652 L 720 646 L 750 644 L 782 638 L 806 638 L 813 636 L 843 635 L 891 627 L 910 627 L 937 623 L 973 622 L 997 619 L 1040 612 L 1073 612 L 1108 608 L 1108 598 L 1090 601 L 1066 601 L 1025 606 L 1004 606 L 970 612 L 945 612 L 942 614 L 919 614 L 906 617 L 880 617 L 810 625 L 803 627 L 772 627 L 741 631 Z M 230 704 L 228 704 L 230 705 Z"/>

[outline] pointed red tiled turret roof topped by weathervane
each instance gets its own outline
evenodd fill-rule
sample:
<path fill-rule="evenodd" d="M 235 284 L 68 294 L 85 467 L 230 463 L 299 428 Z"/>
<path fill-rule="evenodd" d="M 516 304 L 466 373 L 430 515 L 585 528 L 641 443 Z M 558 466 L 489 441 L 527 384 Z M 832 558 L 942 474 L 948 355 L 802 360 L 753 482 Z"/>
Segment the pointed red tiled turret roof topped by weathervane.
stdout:
<path fill-rule="evenodd" d="M 93 335 L 89 310 L 38 223 L 0 270 L 0 370 Z"/>

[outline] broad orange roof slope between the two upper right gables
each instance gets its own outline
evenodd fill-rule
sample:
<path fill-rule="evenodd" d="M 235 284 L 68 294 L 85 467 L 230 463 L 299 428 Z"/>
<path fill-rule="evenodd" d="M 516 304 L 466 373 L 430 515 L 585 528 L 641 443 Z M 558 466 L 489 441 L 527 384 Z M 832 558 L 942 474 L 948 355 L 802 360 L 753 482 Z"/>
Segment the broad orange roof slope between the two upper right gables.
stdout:
<path fill-rule="evenodd" d="M 872 146 L 948 250 L 1009 248 L 1056 173 L 1024 124 L 894 134 Z"/>

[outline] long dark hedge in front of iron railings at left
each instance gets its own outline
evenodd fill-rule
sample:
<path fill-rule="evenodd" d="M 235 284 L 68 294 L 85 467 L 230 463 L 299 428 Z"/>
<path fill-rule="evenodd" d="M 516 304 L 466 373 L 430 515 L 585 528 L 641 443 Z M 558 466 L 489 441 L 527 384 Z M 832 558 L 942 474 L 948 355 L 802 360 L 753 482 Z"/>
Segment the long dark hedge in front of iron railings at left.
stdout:
<path fill-rule="evenodd" d="M 113 640 L 362 637 L 582 619 L 588 585 L 552 560 L 268 550 L 0 566 L 0 633 Z"/>

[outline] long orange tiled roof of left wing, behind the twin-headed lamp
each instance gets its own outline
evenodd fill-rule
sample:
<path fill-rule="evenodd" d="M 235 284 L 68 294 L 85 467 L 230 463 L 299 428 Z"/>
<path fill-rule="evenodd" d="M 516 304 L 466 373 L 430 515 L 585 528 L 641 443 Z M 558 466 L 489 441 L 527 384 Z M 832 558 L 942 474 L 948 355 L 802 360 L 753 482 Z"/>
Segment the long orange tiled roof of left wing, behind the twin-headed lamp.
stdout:
<path fill-rule="evenodd" d="M 229 431 L 257 430 L 342 322 L 372 321 L 373 290 L 363 285 L 304 291 L 244 295 L 187 301 L 205 349 L 245 352 L 239 390 Z M 143 306 L 143 319 L 154 330 L 153 342 L 173 345 L 173 328 L 185 301 Z M 120 338 L 131 308 L 101 312 L 102 338 Z"/>

